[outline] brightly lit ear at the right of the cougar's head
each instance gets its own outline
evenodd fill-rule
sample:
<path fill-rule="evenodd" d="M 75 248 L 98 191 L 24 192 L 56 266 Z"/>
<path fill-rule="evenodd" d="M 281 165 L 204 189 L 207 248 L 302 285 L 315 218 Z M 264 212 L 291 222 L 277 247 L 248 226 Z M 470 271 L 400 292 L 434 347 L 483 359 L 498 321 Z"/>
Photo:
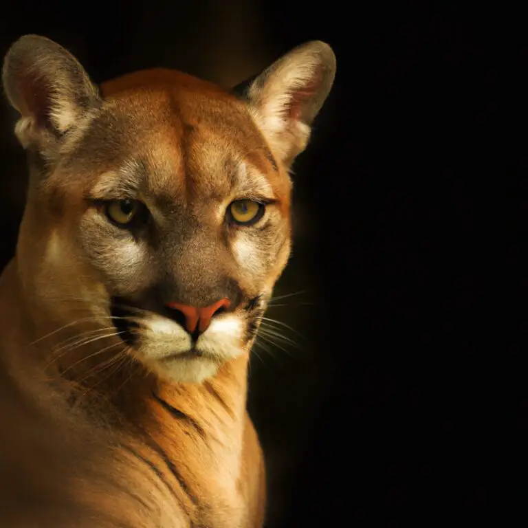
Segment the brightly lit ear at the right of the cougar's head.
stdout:
<path fill-rule="evenodd" d="M 304 151 L 310 127 L 336 75 L 336 56 L 321 41 L 300 45 L 269 68 L 239 85 L 274 153 L 289 166 Z"/>

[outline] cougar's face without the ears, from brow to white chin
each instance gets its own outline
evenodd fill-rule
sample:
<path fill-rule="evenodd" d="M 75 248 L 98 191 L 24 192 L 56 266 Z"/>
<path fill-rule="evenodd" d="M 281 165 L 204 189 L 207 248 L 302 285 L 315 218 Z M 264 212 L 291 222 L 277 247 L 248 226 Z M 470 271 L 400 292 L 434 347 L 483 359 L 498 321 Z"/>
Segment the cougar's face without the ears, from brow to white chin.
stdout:
<path fill-rule="evenodd" d="M 189 380 L 250 346 L 289 254 L 287 174 L 242 104 L 196 103 L 187 91 L 114 100 L 68 169 L 87 183 L 72 242 L 101 277 L 120 336 Z M 256 209 L 245 223 L 244 207 Z"/>

